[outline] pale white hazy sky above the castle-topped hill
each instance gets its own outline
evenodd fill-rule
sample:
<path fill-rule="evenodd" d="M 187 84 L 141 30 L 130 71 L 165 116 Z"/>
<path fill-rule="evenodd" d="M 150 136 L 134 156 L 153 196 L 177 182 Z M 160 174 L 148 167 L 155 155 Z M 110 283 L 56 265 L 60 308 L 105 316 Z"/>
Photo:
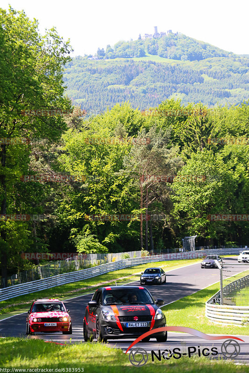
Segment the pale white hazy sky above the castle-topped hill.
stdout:
<path fill-rule="evenodd" d="M 0 0 L 24 9 L 29 18 L 37 18 L 43 34 L 55 26 L 64 39 L 70 38 L 74 56 L 94 54 L 119 40 L 136 40 L 139 33 L 179 31 L 227 51 L 249 54 L 249 1 L 224 0 Z"/>

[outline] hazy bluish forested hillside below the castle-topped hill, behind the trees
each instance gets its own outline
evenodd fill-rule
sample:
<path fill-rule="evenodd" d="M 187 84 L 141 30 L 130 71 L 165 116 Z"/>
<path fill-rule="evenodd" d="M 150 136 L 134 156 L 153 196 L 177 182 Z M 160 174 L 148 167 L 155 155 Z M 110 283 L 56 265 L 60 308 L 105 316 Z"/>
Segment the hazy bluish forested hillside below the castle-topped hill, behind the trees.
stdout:
<path fill-rule="evenodd" d="M 190 62 L 151 55 L 94 61 L 75 57 L 66 65 L 64 82 L 66 94 L 88 114 L 128 100 L 140 109 L 170 98 L 181 98 L 183 104 L 224 106 L 249 99 L 249 59 L 229 56 Z"/>

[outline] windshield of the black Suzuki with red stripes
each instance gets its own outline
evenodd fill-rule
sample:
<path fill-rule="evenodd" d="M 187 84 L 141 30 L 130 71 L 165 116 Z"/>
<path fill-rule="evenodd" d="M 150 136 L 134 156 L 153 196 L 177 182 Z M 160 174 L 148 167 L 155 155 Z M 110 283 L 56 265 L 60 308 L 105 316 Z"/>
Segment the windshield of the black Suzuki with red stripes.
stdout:
<path fill-rule="evenodd" d="M 103 304 L 153 304 L 150 294 L 143 289 L 104 290 Z"/>

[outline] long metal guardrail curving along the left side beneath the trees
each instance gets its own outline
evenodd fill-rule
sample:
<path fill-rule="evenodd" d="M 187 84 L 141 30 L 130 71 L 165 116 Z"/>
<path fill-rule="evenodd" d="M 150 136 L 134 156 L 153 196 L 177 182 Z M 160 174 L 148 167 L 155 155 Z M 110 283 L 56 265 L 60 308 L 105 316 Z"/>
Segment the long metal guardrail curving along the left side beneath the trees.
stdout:
<path fill-rule="evenodd" d="M 10 286 L 9 288 L 0 289 L 0 301 L 18 297 L 19 295 L 29 294 L 32 292 L 53 288 L 54 286 L 63 285 L 69 282 L 76 282 L 91 277 L 103 275 L 104 273 L 123 269 L 126 267 L 136 266 L 138 264 L 150 263 L 153 261 L 175 260 L 175 259 L 193 259 L 202 258 L 207 254 L 233 254 L 238 255 L 243 248 L 216 249 L 216 250 L 199 250 L 188 251 L 186 253 L 162 254 L 140 258 L 130 258 L 119 260 L 113 263 L 105 263 L 100 266 L 83 269 L 80 271 L 63 273 L 62 275 L 52 276 L 43 280 L 23 283 L 20 285 Z"/>

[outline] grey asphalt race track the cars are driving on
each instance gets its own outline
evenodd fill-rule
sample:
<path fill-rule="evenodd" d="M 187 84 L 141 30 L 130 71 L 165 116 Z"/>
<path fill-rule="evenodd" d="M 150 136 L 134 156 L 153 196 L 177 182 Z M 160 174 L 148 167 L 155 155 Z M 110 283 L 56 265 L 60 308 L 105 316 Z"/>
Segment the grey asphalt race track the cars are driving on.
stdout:
<path fill-rule="evenodd" d="M 237 258 L 225 258 L 226 263 L 237 263 Z M 153 263 L 151 264 L 151 266 Z M 144 265 L 144 269 L 149 267 L 150 264 Z M 183 268 L 175 269 L 167 272 L 167 282 L 162 285 L 146 285 L 146 288 L 150 291 L 154 299 L 162 298 L 165 304 L 176 301 L 180 298 L 186 297 L 187 295 L 193 294 L 194 292 L 205 288 L 206 286 L 212 285 L 218 282 L 220 279 L 220 271 L 218 269 L 212 268 L 200 268 L 200 263 L 191 264 Z M 130 285 L 140 285 L 138 281 L 131 283 Z M 85 314 L 85 307 L 88 301 L 91 300 L 93 294 L 83 295 L 81 297 L 73 298 L 71 300 L 65 301 L 66 307 L 70 310 L 70 315 L 72 318 L 72 335 L 62 335 L 60 333 L 35 333 L 33 336 L 28 336 L 28 338 L 35 339 L 40 338 L 46 341 L 54 342 L 65 342 L 71 339 L 71 342 L 84 342 L 83 339 L 83 317 Z M 27 307 L 28 310 L 29 307 Z M 20 314 L 17 316 L 10 317 L 0 321 L 0 336 L 26 336 L 26 317 L 27 313 Z M 235 335 L 239 337 L 238 335 Z M 240 354 L 234 361 L 238 363 L 249 363 L 249 336 L 240 337 L 245 341 L 240 342 Z M 110 340 L 108 342 L 109 347 L 119 347 L 126 351 L 134 339 L 119 339 L 116 341 Z M 143 343 L 139 342 L 136 347 L 144 348 L 146 351 L 154 350 L 165 350 L 173 348 L 180 348 L 180 352 L 186 354 L 188 352 L 188 347 L 195 346 L 196 349 L 200 346 L 200 350 L 203 348 L 217 347 L 219 354 L 218 358 L 222 357 L 221 345 L 225 339 L 219 341 L 207 341 L 196 336 L 192 336 L 185 333 L 175 333 L 168 332 L 168 341 L 164 344 L 156 342 L 156 339 L 151 339 L 150 342 Z M 207 351 L 205 351 L 207 352 Z M 214 357 L 214 358 L 217 358 Z M 128 357 L 127 357 L 128 358 Z M 210 358 L 210 357 L 207 357 Z M 166 363 L 166 361 L 165 361 Z"/>

